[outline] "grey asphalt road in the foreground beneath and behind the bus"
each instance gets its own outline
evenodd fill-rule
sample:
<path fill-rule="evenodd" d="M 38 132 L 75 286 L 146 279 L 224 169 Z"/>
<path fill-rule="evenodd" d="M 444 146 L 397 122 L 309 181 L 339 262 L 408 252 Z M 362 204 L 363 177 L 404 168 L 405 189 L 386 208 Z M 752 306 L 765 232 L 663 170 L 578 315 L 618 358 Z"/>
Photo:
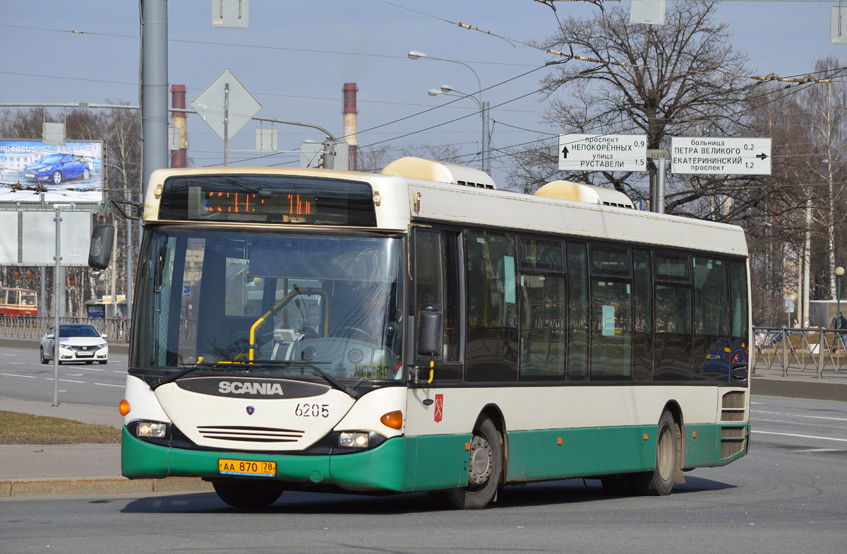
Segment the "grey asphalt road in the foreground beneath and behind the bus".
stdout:
<path fill-rule="evenodd" d="M 285 492 L 246 512 L 213 494 L 0 500 L 0 551 L 844 552 L 847 403 L 754 396 L 750 454 L 665 497 L 581 479 L 507 487 L 480 512 L 427 495 Z"/>

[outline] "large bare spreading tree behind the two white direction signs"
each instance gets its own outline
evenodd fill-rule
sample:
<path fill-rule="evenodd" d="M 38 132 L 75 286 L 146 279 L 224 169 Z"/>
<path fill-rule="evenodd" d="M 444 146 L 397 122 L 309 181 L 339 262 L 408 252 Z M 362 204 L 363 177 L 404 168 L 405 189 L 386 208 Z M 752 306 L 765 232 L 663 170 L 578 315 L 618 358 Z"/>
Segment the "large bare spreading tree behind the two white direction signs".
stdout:
<path fill-rule="evenodd" d="M 567 18 L 542 42 L 593 59 L 619 61 L 586 72 L 581 62 L 562 64 L 542 79 L 550 101 L 542 120 L 563 132 L 644 133 L 647 148 L 669 148 L 671 136 L 733 135 L 750 85 L 743 80 L 746 57 L 729 42 L 728 25 L 715 20 L 714 2 L 670 6 L 665 25 L 631 25 L 628 10 L 606 9 L 589 19 Z M 578 65 L 579 64 L 579 65 Z M 533 190 L 551 177 L 608 184 L 635 199 L 652 189 L 641 173 L 560 172 L 544 148 L 514 153 L 512 187 Z M 650 168 L 650 182 L 655 170 Z M 728 186 L 729 184 L 729 186 Z M 732 190 L 727 179 L 700 176 L 668 183 L 667 211 L 701 212 L 691 207 L 704 197 Z"/>

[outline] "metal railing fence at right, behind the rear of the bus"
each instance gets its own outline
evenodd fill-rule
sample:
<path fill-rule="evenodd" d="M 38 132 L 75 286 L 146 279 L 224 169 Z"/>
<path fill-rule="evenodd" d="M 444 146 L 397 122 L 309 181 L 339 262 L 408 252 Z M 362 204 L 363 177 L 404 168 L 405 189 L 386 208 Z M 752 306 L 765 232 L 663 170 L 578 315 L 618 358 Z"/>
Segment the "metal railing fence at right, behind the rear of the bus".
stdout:
<path fill-rule="evenodd" d="M 753 335 L 753 375 L 776 369 L 783 377 L 808 371 L 822 378 L 847 366 L 847 329 L 753 327 Z"/>

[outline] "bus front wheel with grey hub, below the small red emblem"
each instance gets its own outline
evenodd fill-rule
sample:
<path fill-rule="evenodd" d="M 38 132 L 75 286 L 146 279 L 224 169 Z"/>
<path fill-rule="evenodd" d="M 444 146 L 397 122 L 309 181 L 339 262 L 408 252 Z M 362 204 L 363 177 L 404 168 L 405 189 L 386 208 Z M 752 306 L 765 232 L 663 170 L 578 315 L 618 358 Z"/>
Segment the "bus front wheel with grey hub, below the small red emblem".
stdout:
<path fill-rule="evenodd" d="M 468 458 L 468 485 L 445 493 L 446 500 L 460 510 L 479 510 L 497 494 L 503 473 L 503 441 L 488 417 L 473 428 Z"/>

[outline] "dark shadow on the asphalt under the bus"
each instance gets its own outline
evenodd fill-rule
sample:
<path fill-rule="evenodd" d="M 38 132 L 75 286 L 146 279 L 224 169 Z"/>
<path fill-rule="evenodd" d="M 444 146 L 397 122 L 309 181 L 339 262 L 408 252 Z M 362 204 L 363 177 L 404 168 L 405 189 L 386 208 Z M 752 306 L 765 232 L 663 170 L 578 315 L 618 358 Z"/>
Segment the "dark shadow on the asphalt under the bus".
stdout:
<path fill-rule="evenodd" d="M 674 485 L 672 495 L 688 495 L 714 490 L 734 489 L 736 485 L 707 478 L 686 476 L 684 484 Z M 523 486 L 507 486 L 498 493 L 489 509 L 518 506 L 573 504 L 624 498 L 608 495 L 598 479 L 545 481 Z M 228 506 L 214 493 L 156 495 L 130 501 L 125 513 L 280 513 L 280 514 L 365 514 L 450 512 L 449 508 L 425 493 L 400 495 L 348 495 L 285 491 L 280 500 L 267 508 L 252 510 Z"/>

